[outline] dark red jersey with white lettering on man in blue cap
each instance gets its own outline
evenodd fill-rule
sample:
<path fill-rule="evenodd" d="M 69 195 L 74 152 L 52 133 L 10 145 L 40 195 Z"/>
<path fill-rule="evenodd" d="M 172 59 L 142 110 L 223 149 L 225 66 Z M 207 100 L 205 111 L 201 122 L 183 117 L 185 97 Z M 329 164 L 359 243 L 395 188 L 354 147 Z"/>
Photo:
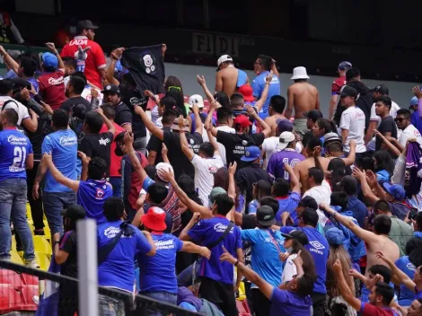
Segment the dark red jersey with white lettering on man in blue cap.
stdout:
<path fill-rule="evenodd" d="M 52 110 L 60 109 L 66 101 L 64 73 L 57 70 L 54 73 L 42 73 L 38 77 L 40 83 L 40 96 Z"/>

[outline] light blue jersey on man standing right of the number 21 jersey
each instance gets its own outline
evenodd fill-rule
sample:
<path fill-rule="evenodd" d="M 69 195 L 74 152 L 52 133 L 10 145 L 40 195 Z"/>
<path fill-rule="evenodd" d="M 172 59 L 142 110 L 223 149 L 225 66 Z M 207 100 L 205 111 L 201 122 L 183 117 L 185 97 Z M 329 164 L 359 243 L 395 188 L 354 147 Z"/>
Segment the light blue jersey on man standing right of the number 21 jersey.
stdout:
<path fill-rule="evenodd" d="M 60 129 L 46 136 L 41 153 L 51 153 L 57 170 L 66 178 L 76 180 L 77 136 L 72 129 Z M 69 192 L 71 189 L 58 183 L 47 171 L 44 191 Z"/>

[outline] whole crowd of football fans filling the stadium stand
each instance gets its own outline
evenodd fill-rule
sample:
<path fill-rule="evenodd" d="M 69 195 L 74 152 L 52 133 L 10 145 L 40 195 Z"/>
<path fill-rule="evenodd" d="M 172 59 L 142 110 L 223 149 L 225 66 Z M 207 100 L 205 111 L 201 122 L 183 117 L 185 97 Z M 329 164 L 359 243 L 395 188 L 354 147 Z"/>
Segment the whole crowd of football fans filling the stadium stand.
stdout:
<path fill-rule="evenodd" d="M 164 73 L 164 44 L 139 70 L 125 48 L 106 60 L 96 29 L 78 22 L 41 60 L 0 47 L 1 260 L 14 234 L 38 267 L 29 201 L 64 276 L 78 276 L 76 222 L 92 218 L 101 286 L 206 315 L 238 315 L 240 287 L 257 316 L 422 315 L 418 86 L 399 106 L 341 62 L 324 118 L 303 66 L 285 99 L 272 57 L 249 78 L 224 55 L 215 92 L 198 75 L 185 100 L 173 75 L 139 89 L 138 72 Z M 77 297 L 60 286 L 58 315 Z M 125 313 L 119 299 L 99 304 Z"/>

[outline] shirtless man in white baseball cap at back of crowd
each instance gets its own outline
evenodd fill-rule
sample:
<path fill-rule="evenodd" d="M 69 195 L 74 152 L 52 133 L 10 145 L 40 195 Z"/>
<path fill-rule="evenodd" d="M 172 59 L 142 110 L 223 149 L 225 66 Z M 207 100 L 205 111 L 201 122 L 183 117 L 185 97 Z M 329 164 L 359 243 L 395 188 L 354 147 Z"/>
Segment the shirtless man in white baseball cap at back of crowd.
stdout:
<path fill-rule="evenodd" d="M 217 61 L 215 92 L 224 92 L 230 98 L 243 84 L 249 83 L 246 73 L 233 65 L 233 58 L 223 55 Z"/>

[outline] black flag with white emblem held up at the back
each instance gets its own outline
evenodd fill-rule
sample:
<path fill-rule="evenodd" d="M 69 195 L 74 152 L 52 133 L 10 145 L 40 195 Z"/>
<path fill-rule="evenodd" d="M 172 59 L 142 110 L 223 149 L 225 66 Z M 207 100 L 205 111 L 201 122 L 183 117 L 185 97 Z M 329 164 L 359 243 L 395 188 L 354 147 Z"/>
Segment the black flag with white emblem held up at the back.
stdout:
<path fill-rule="evenodd" d="M 163 45 L 127 48 L 123 51 L 121 65 L 128 69 L 139 92 L 164 92 Z"/>

